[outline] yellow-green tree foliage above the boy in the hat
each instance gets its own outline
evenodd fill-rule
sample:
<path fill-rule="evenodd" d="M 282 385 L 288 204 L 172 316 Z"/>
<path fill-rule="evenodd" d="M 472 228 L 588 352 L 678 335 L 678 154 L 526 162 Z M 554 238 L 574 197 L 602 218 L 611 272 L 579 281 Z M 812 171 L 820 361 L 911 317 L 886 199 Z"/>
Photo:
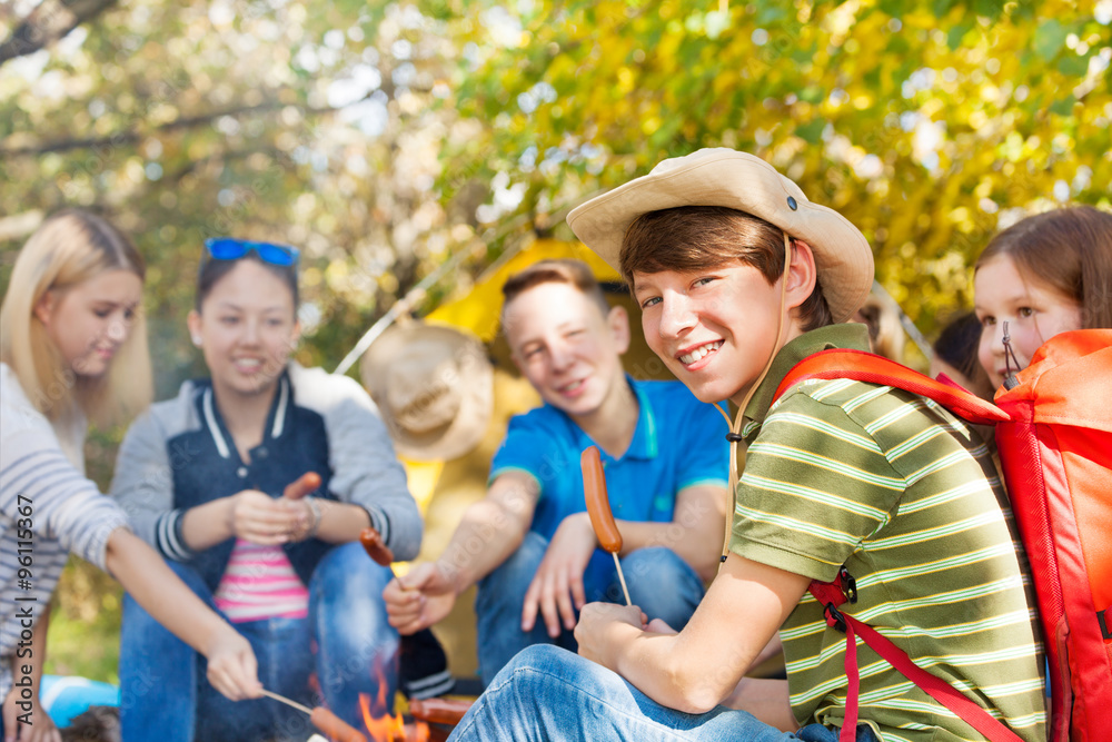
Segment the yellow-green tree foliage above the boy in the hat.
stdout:
<path fill-rule="evenodd" d="M 487 125 L 448 169 L 508 175 L 538 218 L 666 157 L 753 151 L 864 230 L 929 330 L 997 228 L 1109 206 L 1106 1 L 519 8 L 517 42 L 460 78 L 460 113 Z"/>

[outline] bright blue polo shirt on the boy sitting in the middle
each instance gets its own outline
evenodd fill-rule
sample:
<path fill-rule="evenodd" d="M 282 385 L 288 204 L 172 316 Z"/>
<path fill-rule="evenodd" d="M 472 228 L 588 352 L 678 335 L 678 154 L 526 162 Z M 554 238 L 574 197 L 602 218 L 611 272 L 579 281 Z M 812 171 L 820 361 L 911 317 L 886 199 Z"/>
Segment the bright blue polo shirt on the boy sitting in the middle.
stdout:
<path fill-rule="evenodd" d="M 679 382 L 627 379 L 641 405 L 633 442 L 620 458 L 599 447 L 610 511 L 618 521 L 667 523 L 679 491 L 702 484 L 726 487 L 728 427 L 713 405 L 696 399 Z M 567 414 L 546 403 L 509 421 L 488 484 L 507 472 L 532 476 L 540 495 L 529 530 L 552 538 L 565 517 L 587 509 L 579 455 L 592 445 L 597 444 Z M 608 560 L 597 550 L 588 570 L 613 568 Z"/>

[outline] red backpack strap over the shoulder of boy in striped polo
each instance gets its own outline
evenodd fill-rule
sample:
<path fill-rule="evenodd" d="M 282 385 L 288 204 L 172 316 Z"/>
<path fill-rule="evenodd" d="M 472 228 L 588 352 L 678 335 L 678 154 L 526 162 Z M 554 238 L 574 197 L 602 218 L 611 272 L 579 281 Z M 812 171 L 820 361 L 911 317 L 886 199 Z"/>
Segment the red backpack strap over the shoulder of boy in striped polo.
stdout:
<path fill-rule="evenodd" d="M 855 382 L 884 384 L 905 389 L 929 399 L 976 425 L 994 425 L 1011 417 L 1007 413 L 962 387 L 924 376 L 916 370 L 864 350 L 821 350 L 807 356 L 787 372 L 776 387 L 773 402 L 790 388 L 805 379 L 851 378 Z"/>

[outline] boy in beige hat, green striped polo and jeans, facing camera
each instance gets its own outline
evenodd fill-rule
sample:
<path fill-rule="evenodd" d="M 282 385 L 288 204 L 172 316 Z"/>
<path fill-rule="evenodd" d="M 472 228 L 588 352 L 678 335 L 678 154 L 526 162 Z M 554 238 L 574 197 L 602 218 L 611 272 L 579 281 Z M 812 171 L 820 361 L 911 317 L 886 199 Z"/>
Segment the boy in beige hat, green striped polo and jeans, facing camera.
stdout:
<path fill-rule="evenodd" d="M 677 378 L 737 408 L 748 448 L 727 551 L 683 631 L 586 605 L 579 656 L 523 652 L 453 739 L 985 739 L 852 635 L 846 661 L 846 634 L 807 595 L 838 578 L 856 582 L 844 614 L 1014 739 L 1045 739 L 1033 612 L 977 434 L 911 393 L 844 378 L 773 404 L 803 358 L 867 349 L 864 327 L 844 324 L 873 280 L 861 233 L 728 149 L 666 160 L 568 224 L 622 270 Z M 787 680 L 746 679 L 777 631 Z"/>

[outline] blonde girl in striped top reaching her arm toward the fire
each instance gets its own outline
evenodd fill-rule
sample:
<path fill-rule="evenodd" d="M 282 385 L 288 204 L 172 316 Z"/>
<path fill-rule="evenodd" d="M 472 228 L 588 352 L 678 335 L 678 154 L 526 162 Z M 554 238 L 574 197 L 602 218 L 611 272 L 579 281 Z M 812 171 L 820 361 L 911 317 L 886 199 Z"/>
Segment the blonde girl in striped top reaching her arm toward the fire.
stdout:
<path fill-rule="evenodd" d="M 250 644 L 132 535 L 85 476 L 87 421 L 150 397 L 131 241 L 80 210 L 48 218 L 20 250 L 0 309 L 0 699 L 4 740 L 61 736 L 40 705 L 50 600 L 72 552 L 119 580 L 175 641 L 207 657 L 210 687 L 259 695 Z M 206 683 L 208 685 L 208 683 Z"/>

